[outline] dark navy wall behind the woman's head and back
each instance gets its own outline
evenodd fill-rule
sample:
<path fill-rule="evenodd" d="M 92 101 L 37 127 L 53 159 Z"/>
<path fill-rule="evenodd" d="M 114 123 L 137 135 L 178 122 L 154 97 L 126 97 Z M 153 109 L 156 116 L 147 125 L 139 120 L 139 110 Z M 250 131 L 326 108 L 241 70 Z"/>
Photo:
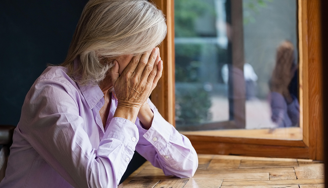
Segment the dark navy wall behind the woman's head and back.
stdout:
<path fill-rule="evenodd" d="M 0 124 L 17 125 L 35 79 L 65 60 L 86 2 L 0 1 Z"/>

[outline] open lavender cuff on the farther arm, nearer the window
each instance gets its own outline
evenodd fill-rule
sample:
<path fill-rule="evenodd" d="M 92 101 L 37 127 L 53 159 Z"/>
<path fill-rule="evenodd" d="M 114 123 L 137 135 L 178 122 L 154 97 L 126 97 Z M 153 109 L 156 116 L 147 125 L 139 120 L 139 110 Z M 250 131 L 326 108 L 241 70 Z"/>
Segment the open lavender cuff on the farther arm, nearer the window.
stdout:
<path fill-rule="evenodd" d="M 148 130 L 143 129 L 143 137 L 160 151 L 169 143 L 172 128 L 173 126 L 158 111 L 154 111 L 152 126 Z"/>

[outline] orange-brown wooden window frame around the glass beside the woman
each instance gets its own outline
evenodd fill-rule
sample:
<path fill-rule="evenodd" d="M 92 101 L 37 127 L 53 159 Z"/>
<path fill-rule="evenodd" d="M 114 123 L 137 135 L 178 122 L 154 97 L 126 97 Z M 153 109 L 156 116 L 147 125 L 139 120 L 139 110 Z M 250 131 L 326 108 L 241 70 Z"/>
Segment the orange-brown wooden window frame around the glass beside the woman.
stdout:
<path fill-rule="evenodd" d="M 174 0 L 153 2 L 166 15 L 168 33 L 160 46 L 164 69 L 162 78 L 152 93 L 152 101 L 162 116 L 175 125 Z M 186 135 L 197 153 L 323 160 L 320 23 L 320 0 L 298 0 L 302 140 Z"/>

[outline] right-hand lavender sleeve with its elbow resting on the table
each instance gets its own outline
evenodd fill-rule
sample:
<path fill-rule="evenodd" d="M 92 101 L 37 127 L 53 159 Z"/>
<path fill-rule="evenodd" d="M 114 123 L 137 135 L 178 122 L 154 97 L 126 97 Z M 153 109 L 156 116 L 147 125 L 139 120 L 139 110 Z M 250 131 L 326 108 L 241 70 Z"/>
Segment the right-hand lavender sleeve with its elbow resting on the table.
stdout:
<path fill-rule="evenodd" d="M 150 100 L 148 104 L 154 112 L 152 126 L 145 130 L 137 125 L 140 138 L 136 151 L 167 176 L 193 177 L 198 166 L 194 147 L 159 114 Z"/>

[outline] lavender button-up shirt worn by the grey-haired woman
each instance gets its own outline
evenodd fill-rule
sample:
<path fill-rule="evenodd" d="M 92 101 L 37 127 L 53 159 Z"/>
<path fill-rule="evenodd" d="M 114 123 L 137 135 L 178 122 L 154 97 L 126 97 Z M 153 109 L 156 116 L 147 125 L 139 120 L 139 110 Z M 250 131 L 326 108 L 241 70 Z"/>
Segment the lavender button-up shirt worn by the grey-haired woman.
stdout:
<path fill-rule="evenodd" d="M 154 112 L 149 130 L 114 117 L 112 103 L 105 128 L 99 86 L 79 86 L 64 67 L 48 67 L 28 92 L 15 128 L 6 176 L 0 187 L 117 187 L 134 150 L 165 175 L 192 177 L 195 149 L 184 135 Z"/>

